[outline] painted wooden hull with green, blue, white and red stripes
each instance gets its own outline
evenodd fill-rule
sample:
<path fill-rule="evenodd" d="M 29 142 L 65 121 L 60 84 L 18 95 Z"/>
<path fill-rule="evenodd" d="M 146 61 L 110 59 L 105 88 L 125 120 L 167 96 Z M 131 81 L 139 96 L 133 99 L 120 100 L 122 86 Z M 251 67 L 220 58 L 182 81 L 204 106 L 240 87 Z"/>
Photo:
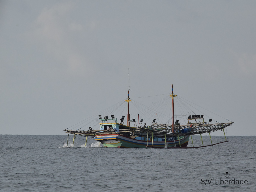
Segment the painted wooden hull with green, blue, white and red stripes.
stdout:
<path fill-rule="evenodd" d="M 180 137 L 179 140 L 175 141 L 163 141 L 163 142 L 152 142 L 152 141 L 141 141 L 131 137 L 126 137 L 120 134 L 105 134 L 96 135 L 95 141 L 99 141 L 104 147 L 118 147 L 118 148 L 170 148 L 170 147 L 187 147 L 189 136 Z M 179 145 L 180 142 L 180 145 Z M 148 147 L 147 147 L 148 146 Z"/>

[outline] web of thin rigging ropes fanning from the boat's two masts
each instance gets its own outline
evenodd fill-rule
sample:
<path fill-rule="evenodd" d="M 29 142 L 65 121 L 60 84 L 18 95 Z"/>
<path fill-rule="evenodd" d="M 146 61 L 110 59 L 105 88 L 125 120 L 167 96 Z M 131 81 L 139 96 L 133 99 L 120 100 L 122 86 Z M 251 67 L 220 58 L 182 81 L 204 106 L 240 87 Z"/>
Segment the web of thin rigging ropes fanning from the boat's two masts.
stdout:
<path fill-rule="evenodd" d="M 172 101 L 172 97 L 170 97 L 169 94 L 161 94 L 161 95 L 166 95 L 166 96 L 164 98 L 162 98 L 161 100 L 157 101 L 156 102 L 157 104 L 153 103 L 150 106 L 146 106 L 146 105 L 144 105 L 142 103 L 139 103 L 139 102 L 137 102 L 135 100 L 136 98 L 132 98 L 133 102 L 130 103 L 130 108 L 132 109 L 130 111 L 130 112 L 132 112 L 130 119 L 132 119 L 132 116 L 134 116 L 135 119 L 137 119 L 136 116 L 138 116 L 138 114 L 142 114 L 142 115 L 140 115 L 140 118 L 143 118 L 144 122 L 151 121 L 149 125 L 151 125 L 153 119 L 157 119 L 157 121 L 159 121 L 160 124 L 168 124 L 168 122 L 172 120 L 172 116 L 171 116 L 172 104 L 170 104 L 170 102 Z M 155 96 L 161 96 L 161 95 L 154 95 L 154 96 L 147 96 L 147 97 L 155 97 Z M 147 98 L 147 97 L 137 97 L 137 98 Z M 189 106 L 191 106 L 194 109 L 196 109 L 196 108 L 193 105 L 190 104 L 192 102 L 190 102 L 190 103 L 188 103 L 188 102 L 190 102 L 190 101 L 188 101 L 188 100 L 186 100 L 186 99 L 184 99 L 182 97 L 179 97 L 179 96 L 177 97 L 176 102 L 175 102 L 176 103 L 175 104 L 175 108 L 176 108 L 175 111 L 177 110 L 181 114 L 183 114 L 183 115 L 175 115 L 175 118 L 178 118 L 177 120 L 179 120 L 179 118 L 183 119 L 184 122 L 185 122 L 185 125 L 186 125 L 186 120 L 187 120 L 187 119 L 186 120 L 184 119 L 185 116 L 190 115 L 191 113 L 196 115 L 196 113 L 193 112 L 189 108 Z M 82 126 L 82 127 L 85 127 L 85 126 L 88 126 L 88 125 L 90 127 L 98 126 L 100 120 L 99 119 L 95 119 L 95 118 L 92 119 L 92 118 L 95 117 L 96 115 L 99 115 L 99 114 L 102 114 L 102 113 L 106 114 L 104 116 L 109 116 L 109 115 L 112 115 L 112 114 L 113 115 L 118 114 L 118 115 L 120 115 L 120 119 L 121 119 L 121 116 L 124 114 L 124 110 L 127 107 L 127 105 L 125 105 L 124 103 L 126 103 L 126 102 L 124 100 L 122 100 L 122 101 L 114 104 L 110 108 L 102 110 L 101 112 L 90 116 L 89 118 L 87 118 L 87 119 L 85 119 L 85 120 L 83 120 L 83 121 L 81 121 L 81 122 L 71 126 L 71 127 L 73 127 L 72 130 L 76 129 L 77 127 L 80 128 L 80 126 Z M 196 106 L 199 106 L 199 105 L 197 105 L 195 103 L 192 103 L 192 104 L 194 104 Z M 133 107 L 134 107 L 134 109 L 133 109 Z M 200 107 L 200 108 L 202 108 L 202 107 Z M 169 115 L 168 115 L 168 111 L 167 111 L 168 109 L 169 109 Z M 184 109 L 185 109 L 185 111 L 187 110 L 188 113 L 185 114 Z M 202 108 L 202 109 L 204 109 L 204 108 Z M 207 109 L 205 109 L 205 110 L 207 110 Z M 161 111 L 161 112 L 159 112 L 159 111 Z M 207 111 L 209 111 L 209 110 L 207 110 Z M 121 114 L 119 112 L 121 112 Z M 201 114 L 204 114 L 201 111 L 199 111 L 199 112 Z M 211 111 L 209 111 L 209 112 L 211 112 Z M 167 113 L 167 115 L 165 115 L 166 113 Z M 211 112 L 211 113 L 213 113 L 213 112 Z M 215 113 L 213 113 L 213 114 L 215 114 Z M 217 115 L 217 114 L 215 114 L 215 115 Z M 127 114 L 125 114 L 125 116 L 126 116 L 126 119 L 127 119 Z M 205 114 L 205 116 L 209 117 L 206 114 Z M 218 115 L 218 116 L 221 117 L 220 115 Z M 221 118 L 223 118 L 223 117 L 221 117 Z M 89 122 L 86 122 L 89 119 L 92 119 L 92 120 L 90 120 Z M 69 127 L 68 129 L 70 129 L 71 127 Z"/>

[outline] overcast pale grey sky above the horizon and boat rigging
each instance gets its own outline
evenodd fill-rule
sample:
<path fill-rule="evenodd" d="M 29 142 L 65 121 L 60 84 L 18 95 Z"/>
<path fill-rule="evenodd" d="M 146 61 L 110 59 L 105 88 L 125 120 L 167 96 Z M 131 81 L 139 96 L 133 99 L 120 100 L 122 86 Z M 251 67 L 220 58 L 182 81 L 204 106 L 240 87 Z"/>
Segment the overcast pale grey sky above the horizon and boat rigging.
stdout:
<path fill-rule="evenodd" d="M 97 119 L 127 98 L 129 68 L 131 98 L 173 84 L 234 121 L 229 135 L 256 135 L 255 9 L 256 1 L 0 1 L 0 134 L 65 134 Z"/>

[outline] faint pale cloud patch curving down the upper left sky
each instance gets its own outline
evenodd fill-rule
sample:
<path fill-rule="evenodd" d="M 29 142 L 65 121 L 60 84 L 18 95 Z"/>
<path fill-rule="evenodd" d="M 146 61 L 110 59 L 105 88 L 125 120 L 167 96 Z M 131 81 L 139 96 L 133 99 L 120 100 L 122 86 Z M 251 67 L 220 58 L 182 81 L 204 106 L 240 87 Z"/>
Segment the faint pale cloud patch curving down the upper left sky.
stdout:
<path fill-rule="evenodd" d="M 62 70 L 71 73 L 86 72 L 83 65 L 84 56 L 79 54 L 76 46 L 70 39 L 70 34 L 82 31 L 83 26 L 68 18 L 73 9 L 71 2 L 59 3 L 50 8 L 44 8 L 35 23 L 35 41 L 39 41 L 49 55 L 62 62 Z"/>

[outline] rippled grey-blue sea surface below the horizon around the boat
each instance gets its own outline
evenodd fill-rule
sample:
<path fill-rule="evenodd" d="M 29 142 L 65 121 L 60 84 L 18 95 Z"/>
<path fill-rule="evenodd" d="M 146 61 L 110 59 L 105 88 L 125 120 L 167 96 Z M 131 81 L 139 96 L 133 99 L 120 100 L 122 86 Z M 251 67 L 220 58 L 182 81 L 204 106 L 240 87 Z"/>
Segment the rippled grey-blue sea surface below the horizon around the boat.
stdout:
<path fill-rule="evenodd" d="M 256 136 L 228 140 L 196 149 L 122 149 L 93 138 L 85 146 L 81 136 L 73 146 L 67 135 L 0 135 L 0 191 L 255 192 Z M 200 136 L 193 142 L 202 146 Z"/>

